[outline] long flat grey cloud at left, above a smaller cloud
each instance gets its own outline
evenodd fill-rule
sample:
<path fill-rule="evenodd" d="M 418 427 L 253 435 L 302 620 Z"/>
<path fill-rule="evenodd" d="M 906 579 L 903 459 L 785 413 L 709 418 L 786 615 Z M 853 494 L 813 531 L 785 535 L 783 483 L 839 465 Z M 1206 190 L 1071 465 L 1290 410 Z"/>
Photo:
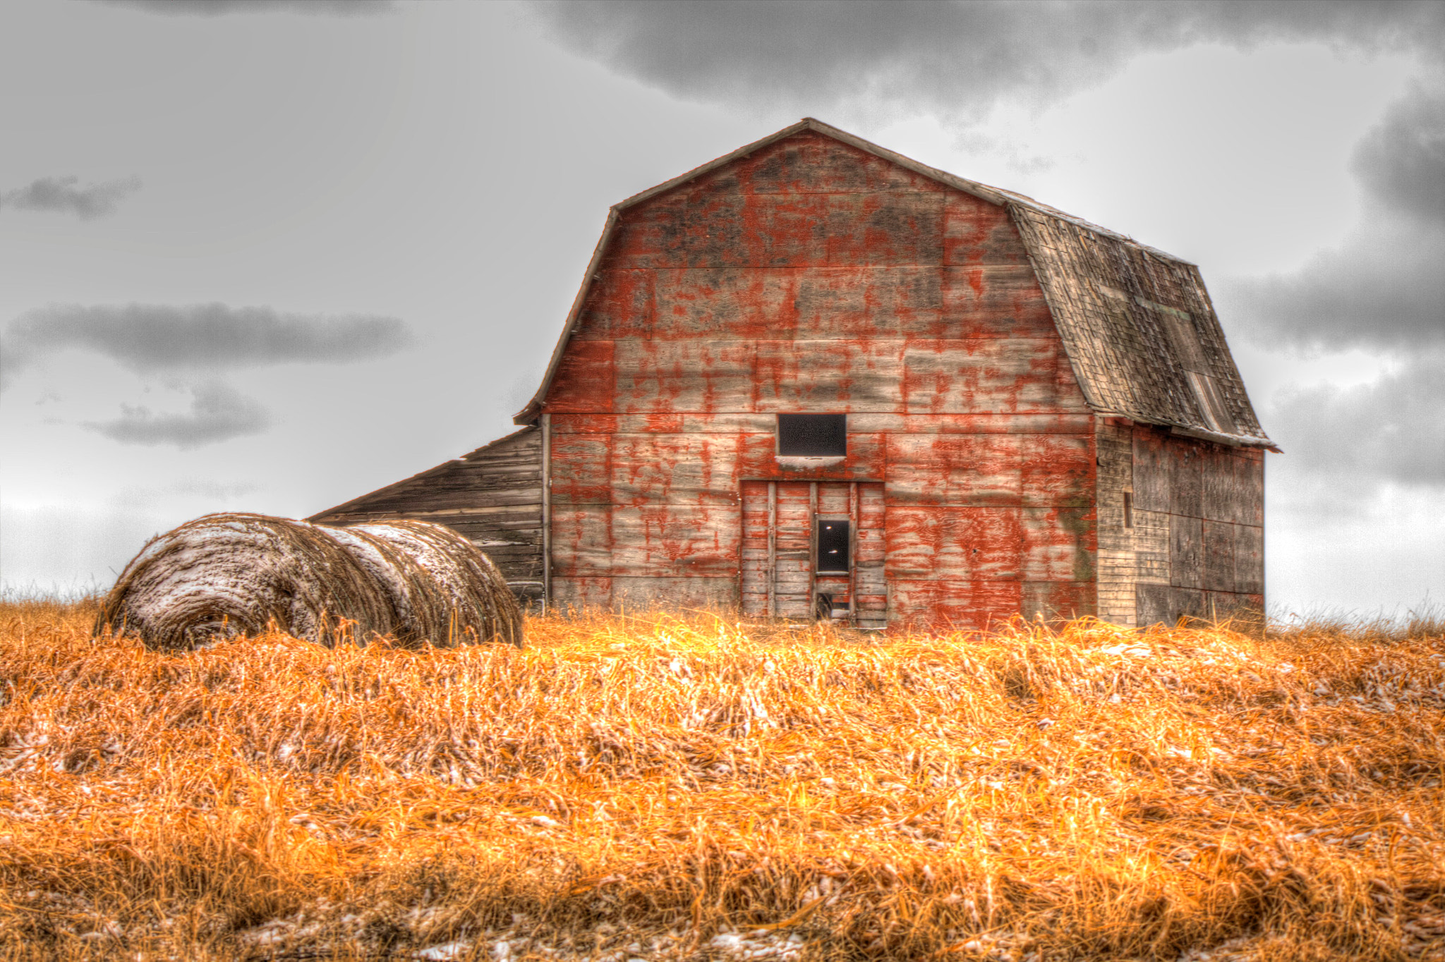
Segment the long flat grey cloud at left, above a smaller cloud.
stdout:
<path fill-rule="evenodd" d="M 81 348 L 142 374 L 266 364 L 341 364 L 407 347 L 406 325 L 379 315 L 298 315 L 272 308 L 51 305 L 10 322 L 0 339 L 0 373 Z"/>

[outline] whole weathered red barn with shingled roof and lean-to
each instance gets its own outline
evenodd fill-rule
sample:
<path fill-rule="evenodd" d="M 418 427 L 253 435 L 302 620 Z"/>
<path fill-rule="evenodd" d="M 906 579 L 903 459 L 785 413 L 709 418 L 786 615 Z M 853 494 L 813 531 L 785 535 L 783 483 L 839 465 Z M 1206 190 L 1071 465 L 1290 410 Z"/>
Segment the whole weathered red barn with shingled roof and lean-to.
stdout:
<path fill-rule="evenodd" d="M 861 628 L 1264 602 L 1264 451 L 1196 266 L 805 118 L 607 215 L 520 429 L 316 514 L 556 610 Z"/>

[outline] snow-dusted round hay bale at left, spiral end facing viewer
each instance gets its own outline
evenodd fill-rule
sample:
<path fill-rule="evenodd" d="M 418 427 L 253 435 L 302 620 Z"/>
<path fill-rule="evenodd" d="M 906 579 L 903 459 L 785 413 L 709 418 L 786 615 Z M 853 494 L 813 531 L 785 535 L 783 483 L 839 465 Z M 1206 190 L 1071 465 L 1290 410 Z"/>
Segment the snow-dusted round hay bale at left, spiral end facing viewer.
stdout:
<path fill-rule="evenodd" d="M 367 643 L 394 628 L 376 578 L 315 524 L 207 514 L 159 534 L 120 573 L 95 631 L 192 649 L 270 624 L 298 638 Z"/>

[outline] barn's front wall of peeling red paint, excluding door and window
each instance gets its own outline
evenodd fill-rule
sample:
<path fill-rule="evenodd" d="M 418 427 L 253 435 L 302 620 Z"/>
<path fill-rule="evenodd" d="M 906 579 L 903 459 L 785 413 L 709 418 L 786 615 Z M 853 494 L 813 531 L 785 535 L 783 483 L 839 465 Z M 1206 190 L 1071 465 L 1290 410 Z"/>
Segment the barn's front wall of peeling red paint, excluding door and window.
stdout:
<path fill-rule="evenodd" d="M 626 208 L 543 410 L 562 607 L 737 604 L 743 481 L 829 480 L 886 482 L 893 624 L 1094 611 L 1095 417 L 1007 211 L 829 137 Z"/>

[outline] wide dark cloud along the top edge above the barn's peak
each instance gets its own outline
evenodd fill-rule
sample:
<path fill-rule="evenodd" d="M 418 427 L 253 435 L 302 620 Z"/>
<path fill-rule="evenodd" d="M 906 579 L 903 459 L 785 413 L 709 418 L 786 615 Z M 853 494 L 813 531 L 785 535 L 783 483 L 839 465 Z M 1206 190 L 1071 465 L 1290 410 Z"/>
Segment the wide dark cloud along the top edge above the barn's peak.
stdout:
<path fill-rule="evenodd" d="M 561 45 L 669 94 L 806 111 L 980 116 L 1207 42 L 1445 49 L 1445 4 L 1433 0 L 539 0 L 532 10 Z"/>

